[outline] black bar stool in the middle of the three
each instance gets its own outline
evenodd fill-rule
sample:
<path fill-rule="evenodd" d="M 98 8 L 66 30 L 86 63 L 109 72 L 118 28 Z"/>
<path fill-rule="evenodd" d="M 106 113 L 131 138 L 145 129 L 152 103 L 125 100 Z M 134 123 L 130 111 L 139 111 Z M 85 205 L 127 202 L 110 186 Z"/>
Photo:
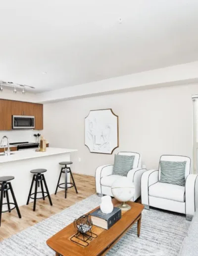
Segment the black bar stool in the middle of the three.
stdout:
<path fill-rule="evenodd" d="M 34 169 L 30 172 L 33 173 L 34 176 L 32 178 L 32 184 L 31 184 L 31 187 L 30 187 L 29 195 L 28 195 L 27 205 L 29 204 L 30 198 L 34 199 L 33 211 L 35 211 L 36 210 L 36 200 L 37 199 L 42 199 L 42 198 L 45 200 L 45 197 L 47 197 L 47 196 L 49 198 L 50 205 L 52 205 L 51 197 L 49 195 L 49 190 L 48 190 L 48 186 L 47 186 L 47 183 L 46 183 L 46 179 L 45 179 L 44 174 L 42 174 L 42 173 L 47 172 L 47 170 L 46 169 Z M 32 193 L 32 187 L 33 187 L 34 181 L 35 181 L 35 192 Z M 45 185 L 45 188 L 46 188 L 46 192 L 44 192 L 43 182 L 44 182 L 44 185 Z M 41 184 L 41 192 L 37 192 L 38 188 L 40 187 L 40 184 Z M 42 197 L 37 197 L 38 193 L 42 193 Z M 47 195 L 45 195 L 45 194 L 47 194 Z M 32 197 L 31 195 L 34 195 L 34 197 Z"/>

